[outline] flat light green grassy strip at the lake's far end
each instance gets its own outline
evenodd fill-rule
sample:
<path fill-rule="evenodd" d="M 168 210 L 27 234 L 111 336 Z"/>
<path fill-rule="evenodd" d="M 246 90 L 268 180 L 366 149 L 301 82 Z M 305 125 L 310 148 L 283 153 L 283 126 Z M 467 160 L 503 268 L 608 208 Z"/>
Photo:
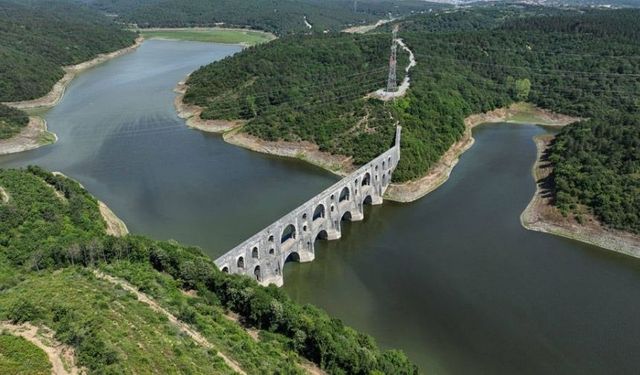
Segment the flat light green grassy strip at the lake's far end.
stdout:
<path fill-rule="evenodd" d="M 173 29 L 173 30 L 140 30 L 145 38 L 162 38 L 175 40 L 190 40 L 195 42 L 230 43 L 256 45 L 272 40 L 274 37 L 256 30 L 232 29 Z"/>

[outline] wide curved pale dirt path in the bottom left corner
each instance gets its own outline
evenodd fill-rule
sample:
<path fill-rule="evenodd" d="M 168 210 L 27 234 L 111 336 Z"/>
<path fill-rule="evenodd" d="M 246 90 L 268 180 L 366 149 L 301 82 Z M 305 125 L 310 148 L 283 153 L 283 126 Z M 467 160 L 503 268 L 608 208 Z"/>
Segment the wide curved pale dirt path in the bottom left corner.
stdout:
<path fill-rule="evenodd" d="M 75 375 L 85 373 L 75 364 L 75 353 L 70 346 L 59 343 L 53 338 L 53 332 L 48 328 L 38 330 L 29 323 L 20 325 L 10 322 L 0 322 L 0 330 L 20 336 L 42 349 L 51 362 L 51 373 L 54 375 Z"/>

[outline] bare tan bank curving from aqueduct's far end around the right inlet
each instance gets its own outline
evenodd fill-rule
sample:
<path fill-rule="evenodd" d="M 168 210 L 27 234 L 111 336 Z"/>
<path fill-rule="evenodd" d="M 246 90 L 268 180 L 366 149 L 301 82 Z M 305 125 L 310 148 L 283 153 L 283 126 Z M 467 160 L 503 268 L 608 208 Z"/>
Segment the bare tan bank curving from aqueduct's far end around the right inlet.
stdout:
<path fill-rule="evenodd" d="M 506 108 L 471 115 L 464 120 L 465 132 L 462 138 L 447 150 L 424 177 L 401 184 L 391 184 L 385 199 L 403 203 L 413 202 L 442 185 L 449 178 L 453 167 L 458 164 L 460 155 L 473 145 L 472 129 L 480 124 L 507 122 L 565 126 L 579 120 L 576 117 L 553 113 L 526 103 L 515 103 Z"/>

